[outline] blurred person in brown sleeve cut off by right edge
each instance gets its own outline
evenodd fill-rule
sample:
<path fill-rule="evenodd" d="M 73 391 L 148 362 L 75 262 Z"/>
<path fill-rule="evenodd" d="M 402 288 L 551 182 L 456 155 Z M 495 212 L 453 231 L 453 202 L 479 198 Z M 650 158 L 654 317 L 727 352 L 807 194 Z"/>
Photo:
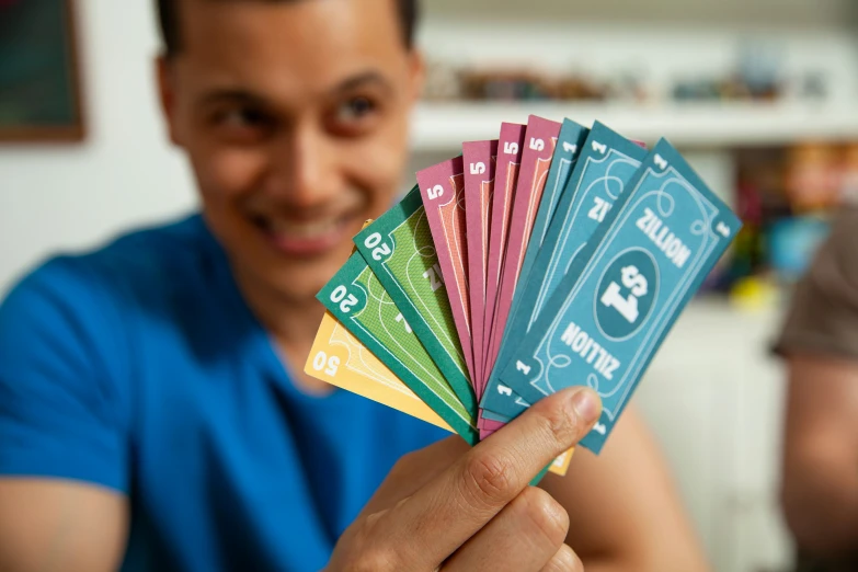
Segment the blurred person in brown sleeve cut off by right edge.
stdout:
<path fill-rule="evenodd" d="M 789 389 L 781 503 L 801 572 L 858 570 L 858 209 L 799 283 L 778 340 Z"/>

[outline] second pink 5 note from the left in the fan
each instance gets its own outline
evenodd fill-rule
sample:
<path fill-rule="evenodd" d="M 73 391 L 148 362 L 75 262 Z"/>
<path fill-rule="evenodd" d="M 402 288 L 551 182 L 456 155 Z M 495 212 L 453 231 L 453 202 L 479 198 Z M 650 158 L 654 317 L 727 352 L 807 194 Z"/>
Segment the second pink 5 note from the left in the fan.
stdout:
<path fill-rule="evenodd" d="M 485 273 L 489 259 L 489 214 L 494 191 L 497 140 L 461 144 L 465 163 L 465 222 L 468 238 L 468 283 L 471 323 L 482 324 L 485 317 Z M 483 329 L 471 328 L 473 348 L 473 389 L 482 397 Z"/>

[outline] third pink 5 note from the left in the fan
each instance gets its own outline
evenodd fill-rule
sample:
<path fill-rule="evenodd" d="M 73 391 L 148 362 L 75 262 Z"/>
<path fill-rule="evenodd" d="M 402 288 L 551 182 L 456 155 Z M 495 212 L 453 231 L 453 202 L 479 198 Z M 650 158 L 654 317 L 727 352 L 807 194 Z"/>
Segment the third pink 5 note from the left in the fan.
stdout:
<path fill-rule="evenodd" d="M 485 385 L 489 369 L 485 368 L 489 332 L 494 322 L 497 287 L 501 283 L 503 254 L 506 250 L 506 233 L 510 229 L 510 214 L 515 193 L 515 182 L 518 178 L 518 165 L 522 162 L 522 146 L 525 136 L 525 125 L 516 123 L 501 124 L 501 137 L 497 141 L 497 168 L 494 176 L 494 196 L 492 197 L 491 227 L 489 230 L 489 260 L 485 274 L 485 317 L 483 319 L 483 368 L 480 388 Z"/>

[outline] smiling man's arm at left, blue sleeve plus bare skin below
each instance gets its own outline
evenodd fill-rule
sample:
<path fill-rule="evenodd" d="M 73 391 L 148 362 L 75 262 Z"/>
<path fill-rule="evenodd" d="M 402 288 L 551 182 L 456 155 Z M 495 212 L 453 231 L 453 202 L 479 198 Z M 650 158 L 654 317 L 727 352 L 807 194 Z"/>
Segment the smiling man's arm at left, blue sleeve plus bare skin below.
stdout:
<path fill-rule="evenodd" d="M 128 438 L 106 306 L 66 264 L 0 306 L 0 570 L 118 567 Z"/>

